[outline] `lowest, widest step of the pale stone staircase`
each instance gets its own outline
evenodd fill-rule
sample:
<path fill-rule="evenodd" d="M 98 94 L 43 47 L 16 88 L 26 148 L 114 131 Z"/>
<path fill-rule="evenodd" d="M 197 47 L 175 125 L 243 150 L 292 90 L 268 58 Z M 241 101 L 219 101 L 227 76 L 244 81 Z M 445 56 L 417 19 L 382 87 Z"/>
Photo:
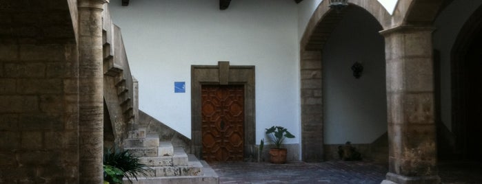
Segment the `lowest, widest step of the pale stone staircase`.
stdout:
<path fill-rule="evenodd" d="M 191 159 L 192 155 L 189 155 Z M 197 159 L 193 159 L 197 161 Z M 157 184 L 157 183 L 170 183 L 170 184 L 184 184 L 184 183 L 199 183 L 199 184 L 219 184 L 219 176 L 205 161 L 199 161 L 202 168 L 202 174 L 199 176 L 154 176 L 154 177 L 138 177 L 137 181 L 132 180 L 134 184 Z M 130 183 L 127 179 L 123 179 L 123 183 Z"/>

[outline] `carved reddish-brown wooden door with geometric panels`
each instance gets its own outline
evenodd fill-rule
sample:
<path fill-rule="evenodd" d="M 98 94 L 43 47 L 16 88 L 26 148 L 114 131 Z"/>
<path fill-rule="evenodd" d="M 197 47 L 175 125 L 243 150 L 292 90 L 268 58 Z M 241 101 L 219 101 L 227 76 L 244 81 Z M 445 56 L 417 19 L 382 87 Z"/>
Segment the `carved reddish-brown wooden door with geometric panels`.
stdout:
<path fill-rule="evenodd" d="M 244 87 L 201 87 L 202 155 L 208 162 L 243 161 Z"/>

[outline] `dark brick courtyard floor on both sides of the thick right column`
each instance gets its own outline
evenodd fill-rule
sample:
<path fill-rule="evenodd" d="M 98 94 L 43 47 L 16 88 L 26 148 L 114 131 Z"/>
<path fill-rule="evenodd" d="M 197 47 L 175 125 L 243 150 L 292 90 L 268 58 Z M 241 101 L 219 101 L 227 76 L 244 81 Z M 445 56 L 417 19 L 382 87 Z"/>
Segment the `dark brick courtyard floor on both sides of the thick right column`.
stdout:
<path fill-rule="evenodd" d="M 367 161 L 326 161 L 322 163 L 267 162 L 210 163 L 219 183 L 376 183 L 385 179 L 387 165 Z M 442 183 L 482 183 L 482 163 L 439 163 Z"/>

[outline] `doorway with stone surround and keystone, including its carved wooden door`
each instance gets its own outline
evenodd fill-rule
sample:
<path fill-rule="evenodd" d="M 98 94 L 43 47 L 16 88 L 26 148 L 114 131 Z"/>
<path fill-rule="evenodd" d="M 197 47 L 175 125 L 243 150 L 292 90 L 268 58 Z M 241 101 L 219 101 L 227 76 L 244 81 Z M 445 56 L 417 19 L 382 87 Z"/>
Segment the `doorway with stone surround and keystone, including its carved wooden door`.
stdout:
<path fill-rule="evenodd" d="M 256 112 L 254 109 L 254 87 L 256 86 L 254 71 L 254 66 L 232 66 L 227 61 L 220 61 L 218 65 L 192 65 L 191 153 L 194 156 L 207 161 L 242 161 L 257 156 L 254 122 Z M 208 93 L 212 94 L 206 95 Z M 227 95 L 229 97 L 226 98 L 224 93 L 232 94 Z M 229 102 L 221 102 L 219 99 Z M 229 103 L 232 105 L 226 105 Z M 221 107 L 214 108 L 215 106 Z M 226 108 L 231 112 L 219 110 Z M 228 115 L 226 115 L 227 113 Z M 223 118 L 232 116 L 231 114 L 236 114 L 236 117 L 233 118 L 237 118 L 236 121 L 242 122 L 242 124 L 228 124 L 228 121 L 232 120 L 221 118 L 221 116 Z M 207 118 L 205 115 L 218 119 L 210 124 L 205 124 L 204 120 Z M 205 129 L 204 126 L 211 127 L 211 129 Z M 221 135 L 221 130 L 224 131 L 224 135 Z M 219 131 L 219 133 L 215 134 L 215 131 Z M 221 139 L 221 137 L 224 138 Z M 217 142 L 218 144 L 214 144 Z M 234 150 L 233 145 L 236 149 L 241 150 Z M 208 154 L 208 156 L 204 154 Z"/>

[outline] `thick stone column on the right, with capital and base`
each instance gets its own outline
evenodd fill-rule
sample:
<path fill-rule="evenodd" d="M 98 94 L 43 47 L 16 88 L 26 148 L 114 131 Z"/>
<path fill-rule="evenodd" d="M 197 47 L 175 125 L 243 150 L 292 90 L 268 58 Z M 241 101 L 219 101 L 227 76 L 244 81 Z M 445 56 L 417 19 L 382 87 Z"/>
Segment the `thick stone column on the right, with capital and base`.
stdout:
<path fill-rule="evenodd" d="M 390 168 L 382 183 L 440 183 L 436 163 L 432 27 L 385 36 Z"/>

